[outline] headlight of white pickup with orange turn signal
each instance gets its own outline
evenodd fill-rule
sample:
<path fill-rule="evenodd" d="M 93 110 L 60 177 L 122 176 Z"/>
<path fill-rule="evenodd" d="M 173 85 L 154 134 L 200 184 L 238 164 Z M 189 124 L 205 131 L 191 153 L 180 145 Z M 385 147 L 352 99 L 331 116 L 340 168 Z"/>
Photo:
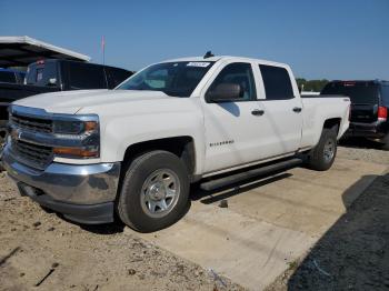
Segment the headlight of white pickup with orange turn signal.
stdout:
<path fill-rule="evenodd" d="M 100 128 L 97 116 L 76 116 L 53 120 L 53 136 L 62 142 L 53 148 L 56 157 L 96 159 L 100 157 Z"/>

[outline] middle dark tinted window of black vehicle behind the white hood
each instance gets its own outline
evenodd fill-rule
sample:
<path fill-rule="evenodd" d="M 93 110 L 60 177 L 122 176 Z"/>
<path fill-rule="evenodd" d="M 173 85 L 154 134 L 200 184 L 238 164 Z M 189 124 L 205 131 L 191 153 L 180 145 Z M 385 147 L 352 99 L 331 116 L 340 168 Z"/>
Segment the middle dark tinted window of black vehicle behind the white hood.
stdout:
<path fill-rule="evenodd" d="M 71 89 L 106 89 L 106 77 L 101 66 L 69 63 L 69 82 Z"/>

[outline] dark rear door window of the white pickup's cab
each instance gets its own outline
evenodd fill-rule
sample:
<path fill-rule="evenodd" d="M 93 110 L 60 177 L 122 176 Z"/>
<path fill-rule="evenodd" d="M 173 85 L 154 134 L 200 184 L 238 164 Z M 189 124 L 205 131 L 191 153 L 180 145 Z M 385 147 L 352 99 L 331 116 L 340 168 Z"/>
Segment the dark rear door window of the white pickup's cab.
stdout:
<path fill-rule="evenodd" d="M 285 68 L 260 64 L 266 99 L 286 100 L 293 99 L 293 89 L 290 77 Z"/>

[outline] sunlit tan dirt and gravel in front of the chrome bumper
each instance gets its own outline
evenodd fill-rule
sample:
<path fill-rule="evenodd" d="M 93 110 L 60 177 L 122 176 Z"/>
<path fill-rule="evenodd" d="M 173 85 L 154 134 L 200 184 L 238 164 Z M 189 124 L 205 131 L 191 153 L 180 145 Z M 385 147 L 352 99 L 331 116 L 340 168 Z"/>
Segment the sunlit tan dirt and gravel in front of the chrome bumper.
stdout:
<path fill-rule="evenodd" d="M 243 290 L 120 224 L 80 227 L 48 213 L 4 173 L 0 243 L 0 290 Z"/>

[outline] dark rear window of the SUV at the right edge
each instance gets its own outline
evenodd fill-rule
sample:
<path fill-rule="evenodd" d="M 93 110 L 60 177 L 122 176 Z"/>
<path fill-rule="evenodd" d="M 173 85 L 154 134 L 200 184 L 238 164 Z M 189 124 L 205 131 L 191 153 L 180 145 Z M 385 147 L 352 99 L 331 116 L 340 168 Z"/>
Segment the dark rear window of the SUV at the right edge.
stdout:
<path fill-rule="evenodd" d="M 341 94 L 350 98 L 353 104 L 378 104 L 378 86 L 370 82 L 330 82 L 320 94 Z"/>

